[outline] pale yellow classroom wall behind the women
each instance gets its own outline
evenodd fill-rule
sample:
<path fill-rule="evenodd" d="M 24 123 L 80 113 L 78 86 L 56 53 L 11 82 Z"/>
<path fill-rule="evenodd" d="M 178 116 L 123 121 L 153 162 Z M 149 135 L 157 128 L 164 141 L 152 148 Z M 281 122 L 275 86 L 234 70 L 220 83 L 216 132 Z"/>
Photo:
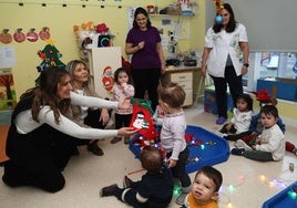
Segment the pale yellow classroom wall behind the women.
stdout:
<path fill-rule="evenodd" d="M 24 33 L 30 28 L 35 28 L 37 32 L 42 27 L 50 28 L 51 38 L 54 40 L 53 44 L 62 53 L 61 61 L 63 63 L 79 58 L 79 48 L 73 32 L 73 25 L 89 21 L 93 21 L 94 24 L 106 23 L 110 32 L 115 35 L 113 44 L 122 46 L 122 54 L 125 55 L 123 53 L 123 46 L 127 32 L 127 7 L 146 7 L 147 4 L 152 4 L 150 0 L 123 0 L 121 3 L 105 1 L 103 2 L 105 7 L 102 9 L 99 6 L 94 7 L 94 3 L 100 4 L 98 0 L 85 1 L 86 4 L 90 4 L 85 8 L 81 7 L 82 1 L 80 0 L 22 0 L 23 7 L 20 7 L 18 2 L 20 1 L 2 0 L 0 2 L 0 30 L 9 29 L 9 32 L 13 34 L 18 28 L 22 28 Z M 47 7 L 41 7 L 41 3 L 37 4 L 34 2 L 45 2 Z M 68 7 L 63 8 L 63 2 L 69 2 Z M 156 2 L 157 7 L 162 9 L 173 1 L 158 0 L 153 2 Z M 195 8 L 197 14 L 192 18 L 185 18 L 185 21 L 188 21 L 191 24 L 191 30 L 190 38 L 180 42 L 181 50 L 183 51 L 190 48 L 202 49 L 204 42 L 204 0 L 197 0 L 196 2 L 199 4 Z M 122 9 L 117 8 L 119 4 L 122 6 Z M 153 24 L 157 24 L 160 18 L 154 17 L 151 20 Z M 37 66 L 41 63 L 41 59 L 37 55 L 37 52 L 43 50 L 47 43 L 41 40 L 34 43 L 29 41 L 17 43 L 12 41 L 7 45 L 16 49 L 18 65 L 12 67 L 12 73 L 16 82 L 17 97 L 19 97 L 25 90 L 34 85 L 34 80 L 38 77 Z M 6 44 L 0 42 L 0 46 L 6 46 Z"/>

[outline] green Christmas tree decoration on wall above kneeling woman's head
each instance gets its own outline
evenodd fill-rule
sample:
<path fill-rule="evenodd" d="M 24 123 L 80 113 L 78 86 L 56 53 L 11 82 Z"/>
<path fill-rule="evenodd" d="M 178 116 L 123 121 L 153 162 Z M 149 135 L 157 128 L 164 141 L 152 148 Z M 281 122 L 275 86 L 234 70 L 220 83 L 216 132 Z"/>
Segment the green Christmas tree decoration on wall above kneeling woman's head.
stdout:
<path fill-rule="evenodd" d="M 41 72 L 44 69 L 50 67 L 50 66 L 58 66 L 58 67 L 65 66 L 65 64 L 60 61 L 60 58 L 62 58 L 62 54 L 53 44 L 47 44 L 42 51 L 39 50 L 38 55 L 42 60 L 40 65 L 37 66 L 38 72 Z M 35 80 L 37 84 L 39 84 L 39 79 L 40 77 Z"/>

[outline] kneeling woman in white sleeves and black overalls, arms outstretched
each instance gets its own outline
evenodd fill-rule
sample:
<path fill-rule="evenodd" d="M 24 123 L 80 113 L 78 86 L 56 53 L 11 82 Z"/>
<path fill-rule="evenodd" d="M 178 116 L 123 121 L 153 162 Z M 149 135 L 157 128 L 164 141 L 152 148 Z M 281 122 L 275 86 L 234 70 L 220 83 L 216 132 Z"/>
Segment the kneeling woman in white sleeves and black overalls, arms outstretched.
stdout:
<path fill-rule="evenodd" d="M 111 102 L 72 92 L 71 79 L 64 69 L 45 69 L 40 85 L 21 95 L 11 118 L 2 180 L 10 187 L 34 186 L 55 193 L 64 187 L 62 170 L 73 148 L 73 137 L 98 139 L 131 136 L 135 131 L 81 127 L 64 115 L 70 104 L 89 107 L 127 108 L 130 101 Z"/>

